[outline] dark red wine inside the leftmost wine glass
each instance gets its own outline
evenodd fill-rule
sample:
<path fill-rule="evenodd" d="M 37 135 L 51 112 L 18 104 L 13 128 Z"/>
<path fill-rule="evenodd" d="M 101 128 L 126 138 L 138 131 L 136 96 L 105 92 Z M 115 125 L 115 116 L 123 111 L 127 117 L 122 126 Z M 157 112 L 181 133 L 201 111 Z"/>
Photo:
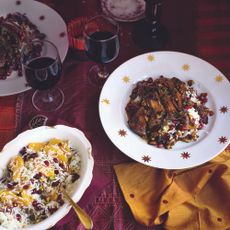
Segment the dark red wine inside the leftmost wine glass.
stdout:
<path fill-rule="evenodd" d="M 33 89 L 47 90 L 61 78 L 62 66 L 50 57 L 39 57 L 29 62 L 25 69 L 28 84 Z"/>

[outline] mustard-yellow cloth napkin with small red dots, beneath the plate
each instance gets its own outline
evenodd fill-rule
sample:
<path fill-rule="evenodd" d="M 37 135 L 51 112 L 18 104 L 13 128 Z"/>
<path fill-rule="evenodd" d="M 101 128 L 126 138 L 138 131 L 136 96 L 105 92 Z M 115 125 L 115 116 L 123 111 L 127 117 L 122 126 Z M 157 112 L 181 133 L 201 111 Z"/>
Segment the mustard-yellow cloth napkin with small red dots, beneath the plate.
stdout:
<path fill-rule="evenodd" d="M 230 150 L 187 170 L 162 170 L 140 163 L 114 166 L 134 218 L 164 229 L 230 227 Z"/>

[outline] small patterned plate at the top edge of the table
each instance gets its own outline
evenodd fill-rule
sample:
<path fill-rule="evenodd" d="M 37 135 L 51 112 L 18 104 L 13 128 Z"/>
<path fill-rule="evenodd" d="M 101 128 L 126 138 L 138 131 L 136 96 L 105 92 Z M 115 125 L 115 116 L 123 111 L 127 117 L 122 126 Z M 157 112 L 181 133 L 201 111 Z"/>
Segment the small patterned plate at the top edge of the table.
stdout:
<path fill-rule="evenodd" d="M 145 16 L 144 0 L 101 0 L 101 8 L 117 21 L 134 22 Z"/>

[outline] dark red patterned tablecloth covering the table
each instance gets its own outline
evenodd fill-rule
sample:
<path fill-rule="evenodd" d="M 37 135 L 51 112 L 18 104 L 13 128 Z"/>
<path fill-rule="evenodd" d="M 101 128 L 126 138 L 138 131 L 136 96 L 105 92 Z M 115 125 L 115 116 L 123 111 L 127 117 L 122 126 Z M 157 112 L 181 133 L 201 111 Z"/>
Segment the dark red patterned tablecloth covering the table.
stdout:
<path fill-rule="evenodd" d="M 101 12 L 100 3 L 95 0 L 43 2 L 56 9 L 66 22 Z M 170 41 L 165 50 L 186 52 L 206 59 L 230 79 L 229 0 L 164 1 L 162 23 L 170 32 Z M 111 70 L 147 51 L 133 43 L 133 26 L 134 23 L 120 23 L 121 51 L 119 57 L 109 64 Z M 55 114 L 38 113 L 31 105 L 32 91 L 0 98 L 0 145 L 3 146 L 17 133 L 29 128 L 37 115 L 46 116 L 48 125 L 64 123 L 81 129 L 92 143 L 95 169 L 92 184 L 80 205 L 92 216 L 94 229 L 153 229 L 135 222 L 116 181 L 112 166 L 132 160 L 112 144 L 101 126 L 98 114 L 100 89 L 93 87 L 87 79 L 87 71 L 92 64 L 91 61 L 79 61 L 71 53 L 68 54 L 59 83 L 65 94 L 65 103 Z M 71 210 L 52 229 L 80 230 L 83 227 Z"/>

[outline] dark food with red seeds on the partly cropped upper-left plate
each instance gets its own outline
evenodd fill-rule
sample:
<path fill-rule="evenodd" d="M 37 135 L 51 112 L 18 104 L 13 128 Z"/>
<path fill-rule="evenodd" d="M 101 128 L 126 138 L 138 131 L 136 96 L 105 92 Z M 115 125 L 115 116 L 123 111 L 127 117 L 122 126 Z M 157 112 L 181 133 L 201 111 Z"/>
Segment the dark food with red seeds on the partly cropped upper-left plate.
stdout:
<path fill-rule="evenodd" d="M 0 17 L 0 80 L 6 79 L 12 71 L 22 76 L 21 48 L 33 39 L 44 38 L 45 34 L 25 14 L 15 12 Z"/>

